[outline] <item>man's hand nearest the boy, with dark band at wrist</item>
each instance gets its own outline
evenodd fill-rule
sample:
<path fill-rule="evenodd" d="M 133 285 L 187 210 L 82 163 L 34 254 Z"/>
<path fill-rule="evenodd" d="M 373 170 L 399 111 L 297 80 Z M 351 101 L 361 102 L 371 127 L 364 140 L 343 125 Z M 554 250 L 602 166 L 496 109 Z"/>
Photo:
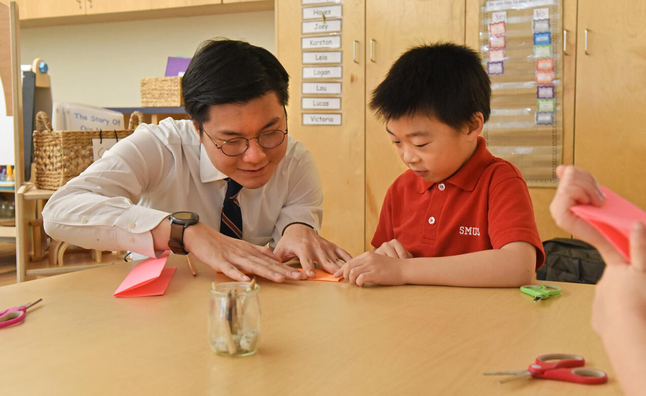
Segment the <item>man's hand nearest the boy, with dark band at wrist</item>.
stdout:
<path fill-rule="evenodd" d="M 352 256 L 339 246 L 320 237 L 318 233 L 303 224 L 291 224 L 276 244 L 274 254 L 287 261 L 298 257 L 308 277 L 315 277 L 315 262 L 329 273 L 339 269 L 339 264 L 349 261 Z"/>

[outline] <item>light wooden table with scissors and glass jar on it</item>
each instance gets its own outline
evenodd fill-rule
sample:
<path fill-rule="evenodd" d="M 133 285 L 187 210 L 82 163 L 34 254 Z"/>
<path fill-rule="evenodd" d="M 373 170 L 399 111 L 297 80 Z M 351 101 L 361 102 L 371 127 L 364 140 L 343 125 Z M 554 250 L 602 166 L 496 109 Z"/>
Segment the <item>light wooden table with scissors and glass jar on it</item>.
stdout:
<path fill-rule="evenodd" d="M 211 270 L 185 261 L 165 295 L 117 298 L 119 263 L 0 288 L 0 307 L 36 301 L 0 329 L 3 395 L 614 395 L 620 388 L 590 328 L 594 286 L 563 283 L 534 303 L 518 289 L 358 288 L 260 281 L 258 353 L 220 357 L 206 339 Z M 226 278 L 218 275 L 218 280 Z M 523 379 L 543 353 L 578 353 L 603 385 Z"/>

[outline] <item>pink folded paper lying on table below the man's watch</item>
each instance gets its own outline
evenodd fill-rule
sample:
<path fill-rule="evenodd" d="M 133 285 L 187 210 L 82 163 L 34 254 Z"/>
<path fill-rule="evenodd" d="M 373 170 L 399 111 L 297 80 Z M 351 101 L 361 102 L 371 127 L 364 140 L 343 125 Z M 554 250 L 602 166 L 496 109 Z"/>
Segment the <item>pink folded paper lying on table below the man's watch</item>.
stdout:
<path fill-rule="evenodd" d="M 145 259 L 137 264 L 114 292 L 116 297 L 143 297 L 146 295 L 162 295 L 172 274 L 177 267 L 164 267 L 168 252 L 158 259 Z"/>

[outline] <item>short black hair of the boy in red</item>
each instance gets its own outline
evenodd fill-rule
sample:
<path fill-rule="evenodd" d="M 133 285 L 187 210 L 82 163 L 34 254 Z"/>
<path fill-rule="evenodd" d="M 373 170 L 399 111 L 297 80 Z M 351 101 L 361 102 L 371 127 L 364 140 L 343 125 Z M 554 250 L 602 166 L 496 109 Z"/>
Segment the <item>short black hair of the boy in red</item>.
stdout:
<path fill-rule="evenodd" d="M 375 88 L 370 108 L 386 121 L 417 113 L 454 129 L 491 113 L 491 82 L 479 55 L 463 45 L 420 45 L 404 52 Z"/>

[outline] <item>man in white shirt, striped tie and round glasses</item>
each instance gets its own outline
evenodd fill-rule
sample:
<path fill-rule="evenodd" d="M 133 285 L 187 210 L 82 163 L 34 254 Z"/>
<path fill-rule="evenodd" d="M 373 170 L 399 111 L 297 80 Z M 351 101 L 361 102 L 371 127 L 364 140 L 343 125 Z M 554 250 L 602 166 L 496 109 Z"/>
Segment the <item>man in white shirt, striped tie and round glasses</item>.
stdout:
<path fill-rule="evenodd" d="M 351 256 L 317 233 L 322 190 L 287 135 L 288 82 L 264 48 L 206 41 L 182 80 L 191 119 L 142 124 L 115 144 L 52 195 L 45 231 L 85 248 L 191 253 L 238 281 L 249 281 L 240 270 L 304 279 L 282 264 L 293 257 L 309 277 L 316 262 L 335 272 Z"/>

